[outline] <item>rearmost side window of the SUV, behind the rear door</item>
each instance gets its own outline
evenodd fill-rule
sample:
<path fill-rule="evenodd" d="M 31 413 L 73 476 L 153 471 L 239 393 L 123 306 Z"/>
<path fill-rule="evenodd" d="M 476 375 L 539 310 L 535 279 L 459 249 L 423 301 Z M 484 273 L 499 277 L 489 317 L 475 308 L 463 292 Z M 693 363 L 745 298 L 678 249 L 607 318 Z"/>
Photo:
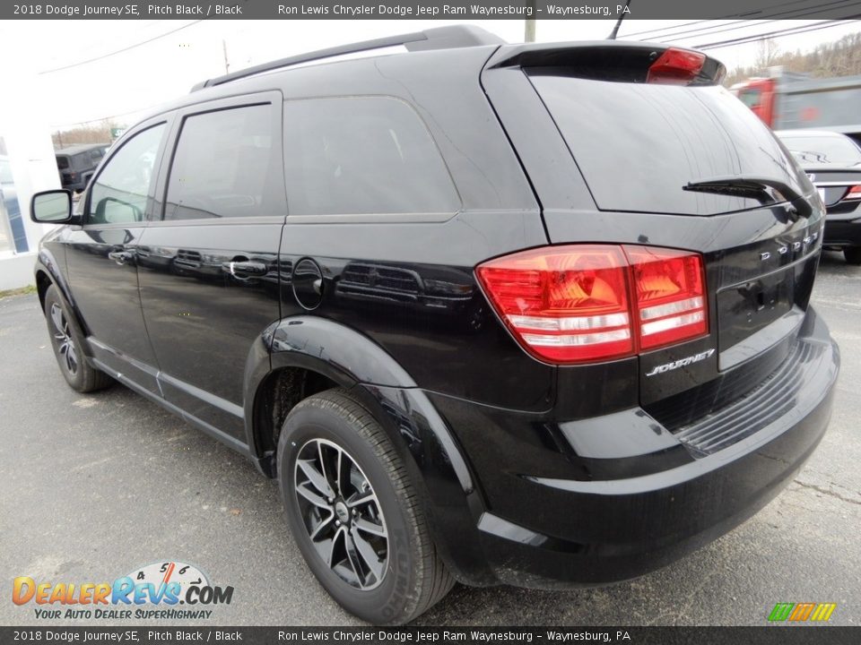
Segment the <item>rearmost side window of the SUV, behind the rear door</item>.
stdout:
<path fill-rule="evenodd" d="M 422 119 L 385 97 L 284 104 L 291 215 L 454 212 L 448 169 Z"/>

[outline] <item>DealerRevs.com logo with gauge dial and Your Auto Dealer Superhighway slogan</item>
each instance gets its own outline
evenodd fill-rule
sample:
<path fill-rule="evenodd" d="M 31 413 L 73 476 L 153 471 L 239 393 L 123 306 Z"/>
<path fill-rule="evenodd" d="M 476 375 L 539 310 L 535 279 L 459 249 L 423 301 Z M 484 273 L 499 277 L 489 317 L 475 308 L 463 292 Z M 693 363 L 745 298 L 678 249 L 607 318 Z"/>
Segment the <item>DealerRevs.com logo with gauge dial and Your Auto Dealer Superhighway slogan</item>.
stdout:
<path fill-rule="evenodd" d="M 15 578 L 12 601 L 33 606 L 39 619 L 200 619 L 213 605 L 230 605 L 232 587 L 213 586 L 191 564 L 152 563 L 113 582 L 45 582 Z"/>

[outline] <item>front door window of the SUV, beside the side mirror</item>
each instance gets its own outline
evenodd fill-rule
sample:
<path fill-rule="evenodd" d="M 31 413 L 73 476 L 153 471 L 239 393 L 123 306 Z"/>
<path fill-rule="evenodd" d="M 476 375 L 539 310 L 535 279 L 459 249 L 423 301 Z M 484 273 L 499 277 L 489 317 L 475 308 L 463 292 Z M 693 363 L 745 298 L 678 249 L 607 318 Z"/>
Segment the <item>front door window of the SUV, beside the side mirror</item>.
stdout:
<path fill-rule="evenodd" d="M 164 131 L 161 124 L 135 134 L 109 159 L 90 189 L 88 223 L 143 220 Z"/>

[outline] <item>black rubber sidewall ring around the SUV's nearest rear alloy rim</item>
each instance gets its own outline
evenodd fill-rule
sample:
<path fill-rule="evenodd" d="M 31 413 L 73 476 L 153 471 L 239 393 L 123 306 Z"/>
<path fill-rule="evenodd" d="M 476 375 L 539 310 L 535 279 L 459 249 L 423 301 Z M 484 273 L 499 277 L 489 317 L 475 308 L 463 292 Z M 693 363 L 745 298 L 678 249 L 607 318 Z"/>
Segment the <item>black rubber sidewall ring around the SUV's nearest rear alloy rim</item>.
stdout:
<path fill-rule="evenodd" d="M 311 439 L 326 439 L 337 443 L 350 453 L 368 477 L 377 495 L 389 534 L 388 563 L 383 581 L 375 589 L 362 591 L 350 587 L 324 563 L 300 517 L 293 477 L 296 457 Z M 373 624 L 400 623 L 411 597 L 414 599 L 417 563 L 415 530 L 411 516 L 392 485 L 386 467 L 378 453 L 359 429 L 339 415 L 335 409 L 303 407 L 287 418 L 278 443 L 278 477 L 287 520 L 297 545 L 309 568 L 328 593 L 350 613 Z"/>

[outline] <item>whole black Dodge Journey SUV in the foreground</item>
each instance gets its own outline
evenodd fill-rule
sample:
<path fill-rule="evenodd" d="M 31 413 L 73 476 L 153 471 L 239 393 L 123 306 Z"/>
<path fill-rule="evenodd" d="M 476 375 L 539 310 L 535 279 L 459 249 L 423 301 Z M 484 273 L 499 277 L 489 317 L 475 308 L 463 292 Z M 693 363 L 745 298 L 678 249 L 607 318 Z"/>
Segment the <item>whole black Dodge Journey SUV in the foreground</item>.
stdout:
<path fill-rule="evenodd" d="M 442 28 L 204 82 L 34 198 L 61 371 L 276 477 L 374 623 L 670 563 L 790 481 L 839 370 L 822 201 L 723 74 Z"/>

